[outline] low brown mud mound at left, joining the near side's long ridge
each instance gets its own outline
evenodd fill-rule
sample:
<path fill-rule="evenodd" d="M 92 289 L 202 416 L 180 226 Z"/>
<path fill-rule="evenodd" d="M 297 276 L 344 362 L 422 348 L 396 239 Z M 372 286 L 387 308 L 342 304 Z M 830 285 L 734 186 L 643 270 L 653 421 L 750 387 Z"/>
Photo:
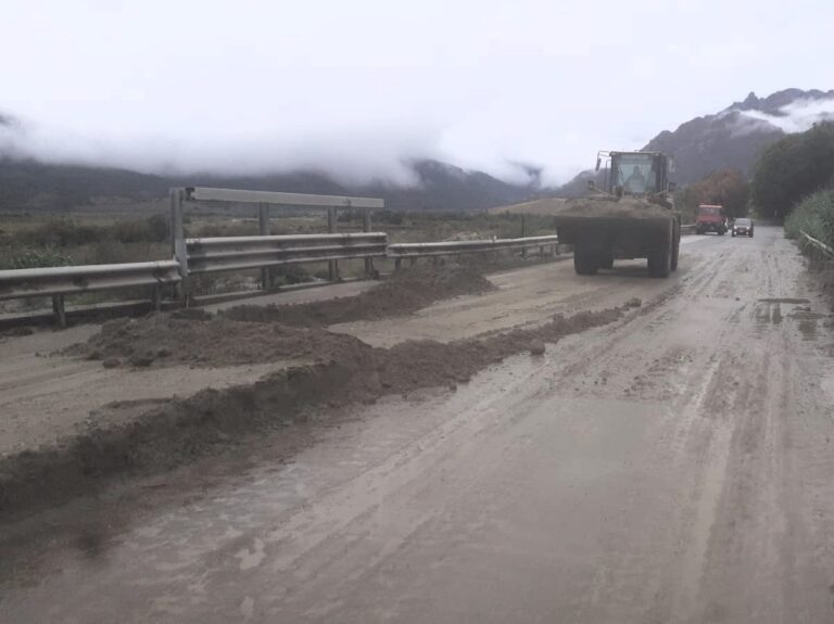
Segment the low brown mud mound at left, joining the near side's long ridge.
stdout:
<path fill-rule="evenodd" d="M 86 343 L 63 353 L 101 359 L 105 366 L 186 364 L 200 367 L 268 364 L 287 359 L 348 360 L 370 348 L 362 341 L 320 329 L 226 318 L 154 314 L 102 326 Z"/>

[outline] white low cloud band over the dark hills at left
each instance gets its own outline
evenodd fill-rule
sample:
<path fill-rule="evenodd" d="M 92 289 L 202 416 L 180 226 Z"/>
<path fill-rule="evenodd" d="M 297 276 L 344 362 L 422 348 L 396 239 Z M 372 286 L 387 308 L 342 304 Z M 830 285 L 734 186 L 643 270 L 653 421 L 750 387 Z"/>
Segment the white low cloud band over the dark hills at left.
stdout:
<path fill-rule="evenodd" d="M 0 154 L 53 164 L 128 168 L 150 174 L 263 175 L 326 173 L 343 183 L 417 183 L 408 163 L 439 157 L 427 132 L 351 131 L 227 137 L 81 133 L 31 122 L 0 125 Z"/>

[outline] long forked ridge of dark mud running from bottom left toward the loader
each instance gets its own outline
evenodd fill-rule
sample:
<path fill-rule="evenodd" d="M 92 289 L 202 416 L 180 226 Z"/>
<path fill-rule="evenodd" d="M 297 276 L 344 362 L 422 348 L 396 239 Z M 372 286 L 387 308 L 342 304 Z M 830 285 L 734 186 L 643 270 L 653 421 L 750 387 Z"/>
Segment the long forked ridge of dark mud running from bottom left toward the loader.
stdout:
<path fill-rule="evenodd" d="M 92 415 L 89 429 L 55 446 L 0 460 L 0 515 L 54 505 L 87 493 L 102 480 L 153 473 L 219 453 L 247 435 L 306 419 L 321 407 L 372 403 L 388 394 L 454 389 L 484 367 L 559 339 L 620 319 L 628 306 L 571 317 L 543 327 L 440 343 L 408 341 L 391 348 L 323 329 L 229 319 L 153 315 L 109 323 L 83 346 L 98 357 L 134 357 L 226 365 L 298 357 L 314 360 L 265 375 L 254 384 L 203 390 L 188 398 L 111 404 Z M 161 354 L 161 349 L 166 349 Z M 155 360 L 154 360 L 155 361 Z M 108 411 L 121 418 L 106 418 Z M 127 410 L 127 412 L 123 411 Z M 124 418 L 125 413 L 129 418 Z M 97 423 L 119 423 L 100 425 Z"/>

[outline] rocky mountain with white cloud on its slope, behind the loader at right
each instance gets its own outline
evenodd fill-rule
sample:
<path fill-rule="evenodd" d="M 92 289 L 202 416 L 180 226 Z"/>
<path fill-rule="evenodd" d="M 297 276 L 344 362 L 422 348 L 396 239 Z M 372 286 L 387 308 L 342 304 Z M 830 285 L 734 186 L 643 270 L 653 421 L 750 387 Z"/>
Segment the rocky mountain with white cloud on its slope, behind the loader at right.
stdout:
<path fill-rule="evenodd" d="M 767 98 L 750 93 L 712 115 L 695 117 L 675 130 L 664 130 L 642 149 L 672 154 L 678 184 L 695 182 L 719 169 L 750 176 L 761 150 L 788 132 L 834 118 L 834 90 L 785 89 Z M 581 171 L 549 194 L 581 196 L 593 170 Z M 602 183 L 602 180 L 599 180 Z"/>

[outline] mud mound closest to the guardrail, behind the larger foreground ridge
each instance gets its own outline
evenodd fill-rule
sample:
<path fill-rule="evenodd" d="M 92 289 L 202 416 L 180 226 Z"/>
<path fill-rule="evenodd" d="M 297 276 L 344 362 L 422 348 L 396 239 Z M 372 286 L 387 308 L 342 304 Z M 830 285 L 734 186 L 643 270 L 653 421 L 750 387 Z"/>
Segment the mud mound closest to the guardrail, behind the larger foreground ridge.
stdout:
<path fill-rule="evenodd" d="M 403 269 L 355 296 L 295 305 L 241 305 L 222 311 L 228 319 L 320 327 L 403 316 L 432 303 L 495 290 L 483 273 L 465 265 L 419 266 Z"/>

